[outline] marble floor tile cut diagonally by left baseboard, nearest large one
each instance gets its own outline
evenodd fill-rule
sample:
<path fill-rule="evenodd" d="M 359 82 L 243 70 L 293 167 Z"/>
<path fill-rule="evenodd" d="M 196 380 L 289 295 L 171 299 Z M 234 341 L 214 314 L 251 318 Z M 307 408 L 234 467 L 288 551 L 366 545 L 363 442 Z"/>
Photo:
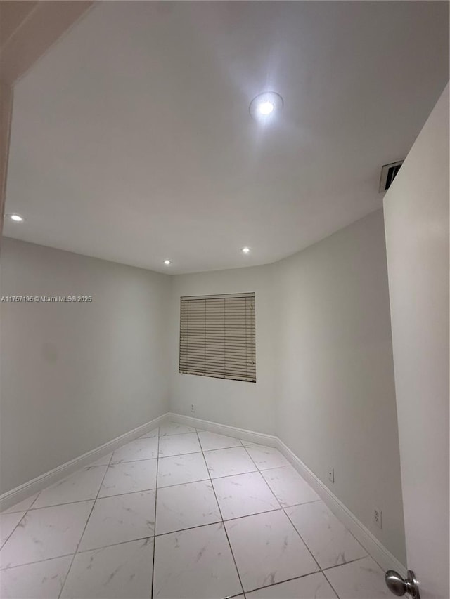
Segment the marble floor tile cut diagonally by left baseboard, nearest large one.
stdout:
<path fill-rule="evenodd" d="M 33 509 L 59 506 L 61 503 L 96 499 L 108 466 L 87 466 L 55 485 L 44 489 L 34 501 Z"/>

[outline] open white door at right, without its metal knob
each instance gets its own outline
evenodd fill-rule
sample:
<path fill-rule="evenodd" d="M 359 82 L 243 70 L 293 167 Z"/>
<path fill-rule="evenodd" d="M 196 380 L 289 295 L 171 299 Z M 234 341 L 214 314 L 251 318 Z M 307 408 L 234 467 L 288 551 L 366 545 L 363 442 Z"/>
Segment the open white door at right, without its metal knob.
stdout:
<path fill-rule="evenodd" d="M 449 86 L 385 195 L 408 567 L 449 598 Z"/>

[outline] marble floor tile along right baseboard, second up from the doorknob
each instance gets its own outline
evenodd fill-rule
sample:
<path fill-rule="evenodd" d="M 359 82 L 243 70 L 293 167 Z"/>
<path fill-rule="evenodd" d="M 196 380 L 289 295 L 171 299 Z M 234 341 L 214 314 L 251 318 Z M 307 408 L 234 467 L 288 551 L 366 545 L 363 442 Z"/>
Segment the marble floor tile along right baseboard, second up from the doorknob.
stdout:
<path fill-rule="evenodd" d="M 323 501 L 286 508 L 285 513 L 321 568 L 344 564 L 367 555 Z"/>

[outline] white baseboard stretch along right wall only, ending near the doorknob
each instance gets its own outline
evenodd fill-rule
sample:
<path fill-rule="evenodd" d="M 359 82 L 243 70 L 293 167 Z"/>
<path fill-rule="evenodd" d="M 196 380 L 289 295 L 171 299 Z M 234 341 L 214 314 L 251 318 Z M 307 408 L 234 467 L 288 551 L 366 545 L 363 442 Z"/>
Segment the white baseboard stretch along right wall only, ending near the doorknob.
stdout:
<path fill-rule="evenodd" d="M 306 480 L 314 491 L 322 499 L 323 503 L 330 508 L 336 518 L 349 529 L 350 532 L 358 539 L 361 545 L 366 549 L 367 553 L 373 557 L 375 562 L 380 565 L 383 570 L 397 570 L 401 576 L 406 577 L 406 567 L 397 560 L 397 558 L 385 548 L 385 546 L 364 526 L 362 522 L 356 518 L 345 505 L 333 494 L 323 482 L 317 478 L 312 470 L 308 468 L 302 460 L 292 452 L 287 445 L 278 439 L 278 449 L 283 456 L 290 461 L 300 475 Z"/>

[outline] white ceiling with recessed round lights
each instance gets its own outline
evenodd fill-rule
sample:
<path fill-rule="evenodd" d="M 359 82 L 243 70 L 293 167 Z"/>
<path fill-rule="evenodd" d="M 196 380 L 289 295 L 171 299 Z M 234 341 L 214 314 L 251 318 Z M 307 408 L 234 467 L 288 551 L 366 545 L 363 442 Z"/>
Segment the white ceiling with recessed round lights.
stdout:
<path fill-rule="evenodd" d="M 448 11 L 98 4 L 15 88 L 4 234 L 172 273 L 293 254 L 382 205 L 449 78 Z"/>

